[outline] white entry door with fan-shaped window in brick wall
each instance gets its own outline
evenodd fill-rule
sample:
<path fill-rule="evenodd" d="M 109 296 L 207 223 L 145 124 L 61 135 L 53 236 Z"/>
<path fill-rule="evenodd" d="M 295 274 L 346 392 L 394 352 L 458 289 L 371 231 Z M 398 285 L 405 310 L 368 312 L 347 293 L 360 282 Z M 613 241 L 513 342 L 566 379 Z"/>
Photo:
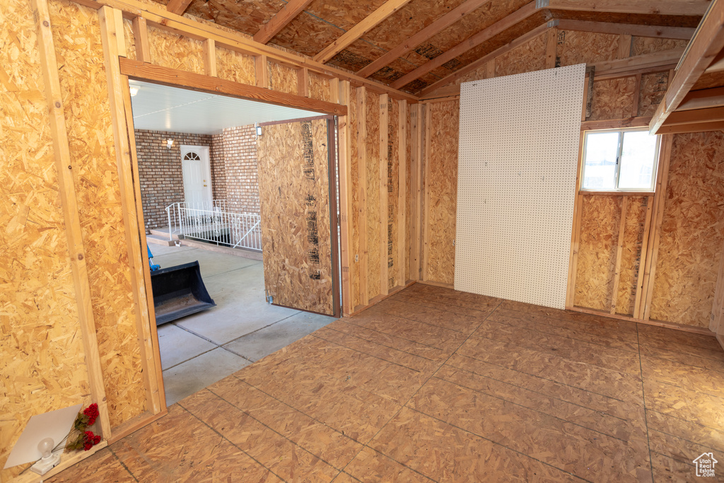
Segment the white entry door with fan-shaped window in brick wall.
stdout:
<path fill-rule="evenodd" d="M 209 146 L 181 145 L 184 201 L 189 208 L 211 209 Z"/>

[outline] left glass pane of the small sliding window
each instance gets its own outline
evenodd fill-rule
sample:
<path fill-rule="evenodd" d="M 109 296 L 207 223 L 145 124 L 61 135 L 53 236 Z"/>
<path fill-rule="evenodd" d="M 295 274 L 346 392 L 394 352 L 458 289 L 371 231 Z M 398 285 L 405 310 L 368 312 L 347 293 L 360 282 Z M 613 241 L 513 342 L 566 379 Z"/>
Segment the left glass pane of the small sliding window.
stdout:
<path fill-rule="evenodd" d="M 616 187 L 618 133 L 586 134 L 585 189 L 613 190 Z"/>

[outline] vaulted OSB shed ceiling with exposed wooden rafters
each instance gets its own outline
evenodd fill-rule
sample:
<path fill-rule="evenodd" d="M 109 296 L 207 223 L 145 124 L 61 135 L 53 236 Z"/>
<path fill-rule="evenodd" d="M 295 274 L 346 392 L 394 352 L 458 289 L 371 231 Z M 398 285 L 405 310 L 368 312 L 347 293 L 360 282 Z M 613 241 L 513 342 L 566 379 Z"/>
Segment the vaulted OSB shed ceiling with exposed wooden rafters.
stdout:
<path fill-rule="evenodd" d="M 552 20 L 688 39 L 707 0 L 157 0 L 319 62 L 418 93 Z"/>

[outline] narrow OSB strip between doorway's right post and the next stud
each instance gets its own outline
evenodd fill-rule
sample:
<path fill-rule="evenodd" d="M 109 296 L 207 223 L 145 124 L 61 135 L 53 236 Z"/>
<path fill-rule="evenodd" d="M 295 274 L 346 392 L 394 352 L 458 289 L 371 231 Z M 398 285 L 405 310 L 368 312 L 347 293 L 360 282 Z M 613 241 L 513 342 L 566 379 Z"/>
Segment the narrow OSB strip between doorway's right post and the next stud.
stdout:
<path fill-rule="evenodd" d="M 352 280 L 352 307 L 362 303 L 360 293 L 360 269 L 359 263 L 355 261 L 355 254 L 360 253 L 360 226 L 357 214 L 360 212 L 359 180 L 360 162 L 357 156 L 357 90 L 350 89 L 350 102 L 348 106 L 348 122 L 350 130 L 350 177 L 352 177 L 352 213 L 349 218 L 349 225 L 352 227 L 352 253 L 350 253 L 350 280 Z"/>

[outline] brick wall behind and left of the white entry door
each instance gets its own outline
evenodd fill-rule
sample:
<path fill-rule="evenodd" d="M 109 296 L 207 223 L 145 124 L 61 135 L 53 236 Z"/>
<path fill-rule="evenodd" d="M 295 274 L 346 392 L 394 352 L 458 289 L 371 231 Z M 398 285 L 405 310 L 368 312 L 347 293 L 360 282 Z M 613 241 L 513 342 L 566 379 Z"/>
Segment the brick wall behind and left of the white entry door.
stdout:
<path fill-rule="evenodd" d="M 171 203 L 184 201 L 181 145 L 211 146 L 211 136 L 136 130 L 135 138 L 140 199 L 146 230 L 167 227 L 165 208 Z M 174 140 L 171 149 L 166 147 L 166 140 L 169 138 Z M 219 164 L 219 161 L 214 159 L 211 149 L 209 157 L 213 172 L 214 165 Z"/>

